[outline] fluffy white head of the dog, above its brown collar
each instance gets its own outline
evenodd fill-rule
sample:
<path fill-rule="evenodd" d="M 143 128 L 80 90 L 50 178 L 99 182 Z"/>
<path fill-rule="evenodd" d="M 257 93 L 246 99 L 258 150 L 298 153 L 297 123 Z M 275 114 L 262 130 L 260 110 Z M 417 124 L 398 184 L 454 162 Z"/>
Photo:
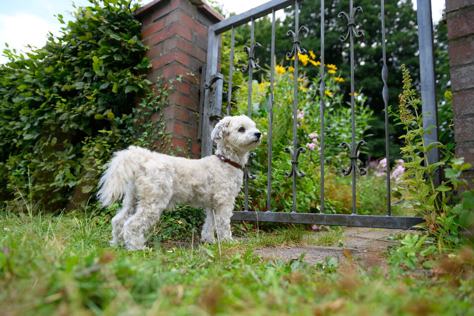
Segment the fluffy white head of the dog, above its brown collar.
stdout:
<path fill-rule="evenodd" d="M 246 115 L 226 116 L 216 124 L 211 138 L 219 145 L 231 146 L 241 152 L 255 149 L 261 142 L 262 134 Z"/>

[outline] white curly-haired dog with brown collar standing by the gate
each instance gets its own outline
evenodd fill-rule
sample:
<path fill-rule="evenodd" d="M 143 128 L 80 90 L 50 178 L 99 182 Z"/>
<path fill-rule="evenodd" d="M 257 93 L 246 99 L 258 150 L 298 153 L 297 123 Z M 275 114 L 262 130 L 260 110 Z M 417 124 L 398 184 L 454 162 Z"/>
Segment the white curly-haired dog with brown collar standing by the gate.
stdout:
<path fill-rule="evenodd" d="M 107 207 L 121 199 L 112 219 L 112 244 L 142 249 L 145 234 L 164 209 L 175 204 L 206 208 L 201 240 L 232 239 L 231 216 L 242 186 L 242 166 L 261 141 L 255 123 L 245 115 L 226 116 L 211 133 L 215 156 L 186 159 L 130 146 L 114 153 L 99 181 L 97 196 Z M 215 217 L 213 216 L 215 215 Z M 217 225 L 217 227 L 216 227 Z"/>

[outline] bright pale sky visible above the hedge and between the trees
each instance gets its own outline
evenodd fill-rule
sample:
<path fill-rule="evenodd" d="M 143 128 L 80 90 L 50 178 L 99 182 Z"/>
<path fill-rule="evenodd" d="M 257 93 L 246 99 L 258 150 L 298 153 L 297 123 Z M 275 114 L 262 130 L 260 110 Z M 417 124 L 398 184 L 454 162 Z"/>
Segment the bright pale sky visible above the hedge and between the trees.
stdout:
<path fill-rule="evenodd" d="M 151 0 L 143 0 L 148 3 Z M 268 0 L 217 0 L 223 5 L 224 13 L 241 13 L 258 6 Z M 87 0 L 74 0 L 79 4 Z M 432 0 L 433 20 L 441 19 L 444 9 L 443 0 Z M 73 0 L 0 0 L 0 53 L 8 43 L 9 48 L 26 51 L 26 45 L 42 47 L 46 43 L 49 32 L 60 34 L 61 23 L 55 15 L 62 14 L 64 20 L 71 20 L 75 11 Z M 283 12 L 283 11 L 281 11 Z M 278 13 L 277 13 L 278 14 Z M 5 63 L 5 57 L 0 56 L 0 64 Z"/>

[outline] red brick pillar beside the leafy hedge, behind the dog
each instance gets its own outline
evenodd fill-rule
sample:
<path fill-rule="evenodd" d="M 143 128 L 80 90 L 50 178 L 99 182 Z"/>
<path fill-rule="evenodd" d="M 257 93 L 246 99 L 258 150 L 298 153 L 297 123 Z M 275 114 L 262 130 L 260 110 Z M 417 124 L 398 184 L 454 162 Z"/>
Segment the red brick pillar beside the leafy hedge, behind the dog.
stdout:
<path fill-rule="evenodd" d="M 173 83 L 169 106 L 163 109 L 165 133 L 171 134 L 173 149 L 200 158 L 196 79 L 201 80 L 199 68 L 206 62 L 208 28 L 223 17 L 201 0 L 155 0 L 137 10 L 135 17 L 142 22 L 142 42 L 150 47 L 145 55 L 153 65 L 148 79 L 161 77 L 167 83 L 183 75 L 181 82 Z"/>

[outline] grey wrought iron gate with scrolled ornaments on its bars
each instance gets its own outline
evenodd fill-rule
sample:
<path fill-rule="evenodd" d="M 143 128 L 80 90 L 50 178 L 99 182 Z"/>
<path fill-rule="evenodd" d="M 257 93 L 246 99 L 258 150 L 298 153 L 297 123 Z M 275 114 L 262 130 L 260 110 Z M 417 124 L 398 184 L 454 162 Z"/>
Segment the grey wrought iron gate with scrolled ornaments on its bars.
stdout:
<path fill-rule="evenodd" d="M 309 1 L 309 0 L 307 0 Z M 351 123 L 352 123 L 352 137 L 348 142 L 343 142 L 342 147 L 349 151 L 349 167 L 342 170 L 344 176 L 352 176 L 352 214 L 325 214 L 324 212 L 324 14 L 325 6 L 324 0 L 320 0 L 320 148 L 321 148 L 321 206 L 320 213 L 298 213 L 297 194 L 296 194 L 296 183 L 299 178 L 305 177 L 306 174 L 298 169 L 298 160 L 300 154 L 304 154 L 306 149 L 298 146 L 297 139 L 297 95 L 298 95 L 298 53 L 305 54 L 306 50 L 300 46 L 300 39 L 303 33 L 308 33 L 306 26 L 299 25 L 299 6 L 300 3 L 304 5 L 303 0 L 271 0 L 265 4 L 255 7 L 244 13 L 232 16 L 224 21 L 212 25 L 209 29 L 208 38 L 208 57 L 207 67 L 204 70 L 204 81 L 202 82 L 201 95 L 204 98 L 201 103 L 200 113 L 200 132 L 202 136 L 202 155 L 212 155 L 212 141 L 210 139 L 211 130 L 213 128 L 213 121 L 221 116 L 222 112 L 222 95 L 223 95 L 223 80 L 224 77 L 218 73 L 219 63 L 219 36 L 225 31 L 231 30 L 231 54 L 230 54 L 230 70 L 229 70 L 229 90 L 228 104 L 227 104 L 227 115 L 230 115 L 231 109 L 231 95 L 232 95 L 232 80 L 233 80 L 233 65 L 234 65 L 234 42 L 235 42 L 235 28 L 239 25 L 249 23 L 251 27 L 250 32 L 250 46 L 245 47 L 244 50 L 248 55 L 247 67 L 243 71 L 248 74 L 248 106 L 247 115 L 250 116 L 251 109 L 251 97 L 252 97 L 252 76 L 253 71 L 258 70 L 258 59 L 255 58 L 255 50 L 260 46 L 259 43 L 255 42 L 254 38 L 254 21 L 260 17 L 271 14 L 272 20 L 272 38 L 271 38 L 271 71 L 270 71 L 270 109 L 268 113 L 269 118 L 269 148 L 268 148 L 268 187 L 267 187 L 267 211 L 266 212 L 253 212 L 248 210 L 248 190 L 249 180 L 253 179 L 253 176 L 249 172 L 249 164 L 245 166 L 244 170 L 244 185 L 245 185 L 245 206 L 243 211 L 236 211 L 232 217 L 232 220 L 244 220 L 244 221 L 261 221 L 261 222 L 281 222 L 281 223 L 306 223 L 306 224 L 322 224 L 322 225 L 341 225 L 341 226 L 359 226 L 359 227 L 377 227 L 377 228 L 395 228 L 395 229 L 410 229 L 413 226 L 422 223 L 424 220 L 421 217 L 400 217 L 392 216 L 391 214 L 391 183 L 390 183 L 390 163 L 386 165 L 387 174 L 387 215 L 386 216 L 371 216 L 371 215 L 358 215 L 356 210 L 356 172 L 359 175 L 365 175 L 367 170 L 359 167 L 357 163 L 358 149 L 360 146 L 366 145 L 364 140 L 357 140 L 355 136 L 355 119 L 354 119 L 354 37 L 359 37 L 362 32 L 357 28 L 356 17 L 358 12 L 362 11 L 360 6 L 354 7 L 353 0 L 348 0 L 348 13 L 340 12 L 339 17 L 347 20 L 347 33 L 345 36 L 340 36 L 341 41 L 348 42 L 350 50 L 350 63 L 351 63 Z M 418 15 L 418 36 L 419 36 L 419 58 L 420 58 L 420 74 L 421 74 L 421 96 L 423 101 L 423 112 L 430 112 L 433 117 L 426 117 L 423 121 L 423 126 L 429 125 L 437 126 L 437 107 L 436 107 L 436 86 L 435 86 L 435 73 L 434 73 L 434 60 L 433 60 L 433 35 L 432 35 L 432 20 L 431 20 L 431 2 L 430 0 L 417 0 L 417 15 Z M 272 212 L 272 126 L 273 126 L 273 86 L 274 86 L 274 70 L 275 70 L 275 11 L 286 8 L 288 6 L 295 6 L 295 29 L 289 30 L 288 35 L 293 38 L 293 50 L 287 53 L 286 57 L 292 59 L 294 57 L 294 97 L 293 97 L 293 146 L 292 148 L 285 148 L 285 152 L 290 155 L 291 158 L 291 170 L 285 173 L 286 177 L 293 179 L 293 209 L 292 212 Z M 382 51 L 383 51 L 383 68 L 382 81 L 384 83 L 381 87 L 384 105 L 385 105 L 385 137 L 386 137 L 386 158 L 390 161 L 389 156 L 389 118 L 388 118 L 388 102 L 389 102 L 389 91 L 387 87 L 387 79 L 389 71 L 387 69 L 386 62 L 386 50 L 385 50 L 385 8 L 384 0 L 381 0 L 381 34 L 382 34 Z M 426 135 L 427 142 L 431 143 L 438 140 L 438 131 L 434 130 L 431 135 Z M 435 162 L 439 159 L 439 153 L 433 150 L 428 157 L 429 161 Z M 253 158 L 254 155 L 251 155 Z"/>

